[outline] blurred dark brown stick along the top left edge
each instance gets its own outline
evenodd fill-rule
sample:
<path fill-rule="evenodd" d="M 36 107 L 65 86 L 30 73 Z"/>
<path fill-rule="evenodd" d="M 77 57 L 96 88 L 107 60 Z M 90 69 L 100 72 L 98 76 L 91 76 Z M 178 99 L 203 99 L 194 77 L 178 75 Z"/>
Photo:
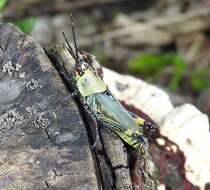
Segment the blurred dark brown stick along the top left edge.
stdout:
<path fill-rule="evenodd" d="M 61 13 L 91 6 L 100 6 L 108 3 L 117 3 L 128 0 L 75 0 L 75 1 L 55 1 L 54 3 L 43 2 L 43 0 L 15 1 L 9 4 L 3 11 L 6 19 L 19 19 L 30 15 L 40 15 L 48 13 Z M 30 10 L 30 12 L 28 12 Z"/>

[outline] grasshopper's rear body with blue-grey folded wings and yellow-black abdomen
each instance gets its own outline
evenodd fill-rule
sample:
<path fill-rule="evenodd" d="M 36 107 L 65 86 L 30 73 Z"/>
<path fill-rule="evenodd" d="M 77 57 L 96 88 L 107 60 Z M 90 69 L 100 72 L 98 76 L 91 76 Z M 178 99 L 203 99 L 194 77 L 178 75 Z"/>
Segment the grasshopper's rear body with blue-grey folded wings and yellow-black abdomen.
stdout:
<path fill-rule="evenodd" d="M 134 148 L 147 144 L 135 120 L 109 91 L 91 95 L 89 105 L 96 113 L 98 122 L 104 128 L 117 133 L 126 143 Z"/>

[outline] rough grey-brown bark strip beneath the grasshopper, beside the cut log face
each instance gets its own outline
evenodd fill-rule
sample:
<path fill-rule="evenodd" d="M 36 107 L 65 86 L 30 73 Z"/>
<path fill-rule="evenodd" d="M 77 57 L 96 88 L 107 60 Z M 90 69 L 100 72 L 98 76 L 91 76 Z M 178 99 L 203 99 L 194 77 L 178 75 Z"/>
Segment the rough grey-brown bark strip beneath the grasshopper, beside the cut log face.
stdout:
<path fill-rule="evenodd" d="M 70 55 L 67 57 L 67 53 L 63 54 L 58 47 L 49 49 L 47 52 L 57 70 L 61 73 L 61 76 L 64 77 L 65 84 L 73 91 L 74 85 L 72 85 L 68 76 L 65 76 L 66 67 L 64 63 L 68 61 L 69 65 L 74 65 L 71 62 L 74 59 L 70 58 Z M 100 64 L 95 60 L 94 56 L 85 52 L 80 53 L 80 55 L 94 68 L 99 77 L 103 76 Z M 85 110 L 80 98 L 78 98 L 78 105 L 81 109 Z M 94 139 L 97 123 L 93 119 L 90 119 L 92 117 L 86 112 L 83 113 L 83 117 L 87 120 L 87 130 L 91 139 Z M 149 159 L 149 154 L 142 155 L 141 151 L 134 150 L 132 147 L 128 147 L 128 145 L 126 146 L 115 133 L 104 129 L 101 125 L 98 125 L 98 127 L 100 142 L 98 142 L 94 152 L 98 161 L 97 168 L 99 169 L 98 173 L 101 176 L 103 189 L 155 190 L 157 188 L 154 172 L 155 166 L 152 160 Z"/>

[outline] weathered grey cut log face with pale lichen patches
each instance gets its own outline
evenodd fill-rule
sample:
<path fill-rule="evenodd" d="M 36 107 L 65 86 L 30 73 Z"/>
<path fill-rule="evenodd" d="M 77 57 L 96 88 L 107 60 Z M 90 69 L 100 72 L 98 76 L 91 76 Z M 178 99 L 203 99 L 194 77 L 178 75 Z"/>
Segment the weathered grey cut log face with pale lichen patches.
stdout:
<path fill-rule="evenodd" d="M 58 73 L 31 37 L 8 24 L 0 34 L 0 189 L 98 189 L 74 101 L 38 110 L 67 95 Z"/>

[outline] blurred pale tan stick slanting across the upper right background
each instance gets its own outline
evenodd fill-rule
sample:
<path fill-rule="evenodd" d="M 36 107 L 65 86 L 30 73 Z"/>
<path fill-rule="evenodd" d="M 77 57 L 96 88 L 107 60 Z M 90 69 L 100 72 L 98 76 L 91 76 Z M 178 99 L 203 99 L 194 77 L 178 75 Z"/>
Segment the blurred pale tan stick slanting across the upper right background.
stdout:
<path fill-rule="evenodd" d="M 139 34 L 145 32 L 145 30 L 162 29 L 168 31 L 174 36 L 180 33 L 190 33 L 194 31 L 204 30 L 209 27 L 210 21 L 210 7 L 199 8 L 187 13 L 180 13 L 170 17 L 161 17 L 147 23 L 137 23 L 129 27 L 116 29 L 111 32 L 95 35 L 91 40 L 83 40 L 80 43 L 82 46 L 102 42 L 106 40 L 112 40 L 119 37 L 125 37 L 128 35 Z M 194 23 L 194 27 L 186 28 L 187 23 Z M 198 24 L 199 22 L 199 24 Z M 197 24 L 197 25 L 196 25 Z M 188 25 L 189 26 L 189 25 Z"/>

